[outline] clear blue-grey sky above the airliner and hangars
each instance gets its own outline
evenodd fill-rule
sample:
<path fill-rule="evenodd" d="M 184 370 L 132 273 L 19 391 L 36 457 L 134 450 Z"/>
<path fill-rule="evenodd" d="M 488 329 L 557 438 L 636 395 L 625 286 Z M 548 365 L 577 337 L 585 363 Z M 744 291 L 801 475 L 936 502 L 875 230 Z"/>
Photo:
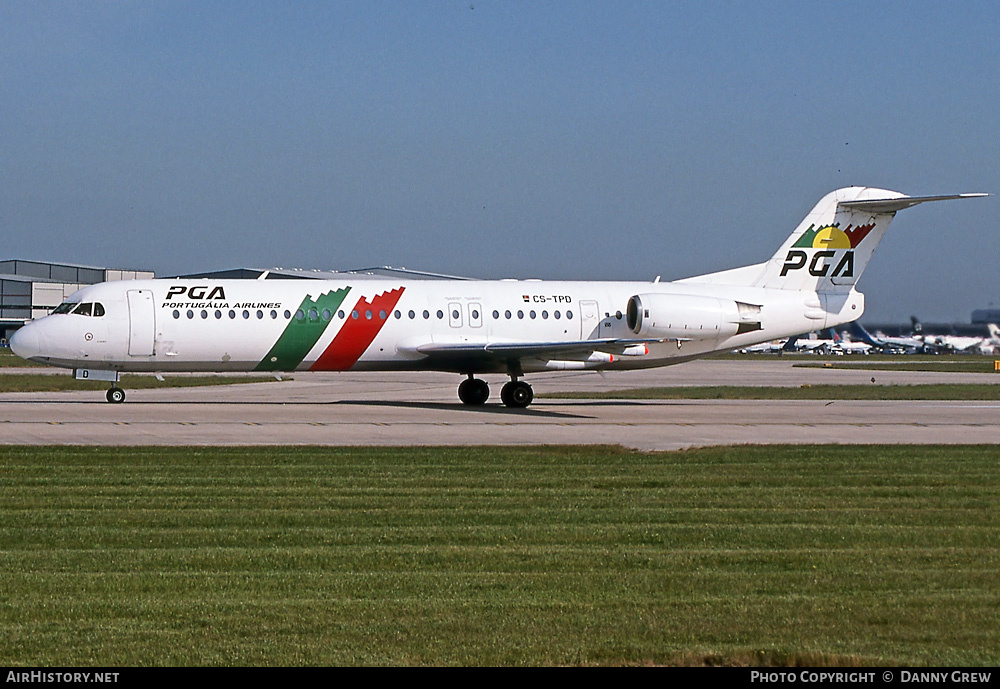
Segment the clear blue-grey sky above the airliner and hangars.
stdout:
<path fill-rule="evenodd" d="M 828 191 L 1000 194 L 995 2 L 0 2 L 0 258 L 664 279 Z M 1000 197 L 864 320 L 1000 303 Z"/>

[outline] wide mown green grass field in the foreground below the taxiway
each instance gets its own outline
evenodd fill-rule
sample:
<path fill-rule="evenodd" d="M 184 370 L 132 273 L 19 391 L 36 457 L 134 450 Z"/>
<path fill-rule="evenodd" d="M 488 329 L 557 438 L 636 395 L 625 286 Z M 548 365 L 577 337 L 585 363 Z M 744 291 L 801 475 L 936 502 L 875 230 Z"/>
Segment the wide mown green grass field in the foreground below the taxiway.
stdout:
<path fill-rule="evenodd" d="M 994 665 L 998 462 L 0 447 L 0 663 Z"/>

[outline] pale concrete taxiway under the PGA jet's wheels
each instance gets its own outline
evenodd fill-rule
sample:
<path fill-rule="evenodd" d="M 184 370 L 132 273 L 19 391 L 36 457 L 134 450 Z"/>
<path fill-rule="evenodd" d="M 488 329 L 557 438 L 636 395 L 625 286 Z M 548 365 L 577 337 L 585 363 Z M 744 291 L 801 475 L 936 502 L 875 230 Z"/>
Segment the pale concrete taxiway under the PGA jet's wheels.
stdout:
<path fill-rule="evenodd" d="M 743 443 L 997 443 L 1000 403 L 560 400 L 645 386 L 989 382 L 1000 375 L 800 368 L 799 358 L 701 360 L 648 371 L 528 376 L 535 402 L 458 402 L 457 375 L 299 373 L 233 386 L 0 394 L 0 443 L 65 445 L 615 444 L 672 450 Z M 905 369 L 905 365 L 901 366 Z"/>

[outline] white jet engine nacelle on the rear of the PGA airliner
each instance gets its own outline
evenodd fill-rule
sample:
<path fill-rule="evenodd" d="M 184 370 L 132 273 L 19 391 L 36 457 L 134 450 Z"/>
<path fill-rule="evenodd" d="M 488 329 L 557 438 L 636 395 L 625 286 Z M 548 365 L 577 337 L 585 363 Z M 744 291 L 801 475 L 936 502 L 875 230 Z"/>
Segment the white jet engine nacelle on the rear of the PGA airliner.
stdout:
<path fill-rule="evenodd" d="M 717 340 L 760 330 L 760 307 L 691 294 L 636 294 L 626 319 L 640 337 Z"/>

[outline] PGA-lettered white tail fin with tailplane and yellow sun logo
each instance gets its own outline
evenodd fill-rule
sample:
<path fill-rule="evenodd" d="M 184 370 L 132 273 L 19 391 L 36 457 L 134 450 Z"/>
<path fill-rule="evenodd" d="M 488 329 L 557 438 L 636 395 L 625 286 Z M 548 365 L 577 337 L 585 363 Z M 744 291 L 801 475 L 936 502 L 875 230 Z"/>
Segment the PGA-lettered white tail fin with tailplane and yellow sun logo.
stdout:
<path fill-rule="evenodd" d="M 927 201 L 986 194 L 905 196 L 873 187 L 830 192 L 766 263 L 680 282 L 746 285 L 808 292 L 849 292 L 896 212 Z"/>

